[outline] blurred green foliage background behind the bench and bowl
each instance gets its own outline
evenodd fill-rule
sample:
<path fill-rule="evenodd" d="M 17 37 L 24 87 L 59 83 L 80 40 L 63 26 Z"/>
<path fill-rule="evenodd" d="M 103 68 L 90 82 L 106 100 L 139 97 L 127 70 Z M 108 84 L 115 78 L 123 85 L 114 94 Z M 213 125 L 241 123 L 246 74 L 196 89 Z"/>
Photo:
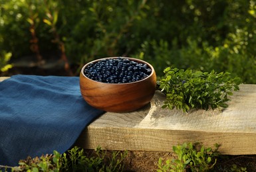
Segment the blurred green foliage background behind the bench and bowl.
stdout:
<path fill-rule="evenodd" d="M 97 58 L 129 56 L 150 62 L 158 76 L 173 66 L 228 71 L 256 83 L 255 0 L 0 0 L 0 5 L 1 75 L 15 74 L 15 64 L 28 56 L 41 71 L 57 58 L 60 75 L 78 75 Z"/>

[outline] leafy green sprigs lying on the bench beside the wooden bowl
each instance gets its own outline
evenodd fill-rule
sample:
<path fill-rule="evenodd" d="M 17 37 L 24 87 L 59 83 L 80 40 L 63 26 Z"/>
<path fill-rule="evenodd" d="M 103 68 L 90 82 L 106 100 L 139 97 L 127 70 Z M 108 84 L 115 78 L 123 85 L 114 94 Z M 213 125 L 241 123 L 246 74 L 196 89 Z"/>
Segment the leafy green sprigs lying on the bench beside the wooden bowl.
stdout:
<path fill-rule="evenodd" d="M 240 78 L 232 79 L 227 72 L 193 72 L 192 69 L 166 67 L 158 89 L 166 95 L 163 108 L 176 107 L 188 112 L 191 108 L 227 107 L 230 101 L 227 96 L 239 90 L 240 83 Z"/>

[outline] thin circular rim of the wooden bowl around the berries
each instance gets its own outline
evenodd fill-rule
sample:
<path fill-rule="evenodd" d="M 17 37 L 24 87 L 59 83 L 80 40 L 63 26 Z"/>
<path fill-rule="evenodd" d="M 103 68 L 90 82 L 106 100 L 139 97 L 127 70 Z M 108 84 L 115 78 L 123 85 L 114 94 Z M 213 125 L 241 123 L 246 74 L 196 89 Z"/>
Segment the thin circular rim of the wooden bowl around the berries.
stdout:
<path fill-rule="evenodd" d="M 84 68 L 85 68 L 87 65 L 89 65 L 89 64 L 94 64 L 95 62 L 98 62 L 98 61 L 100 61 L 100 60 L 116 59 L 116 58 L 124 58 L 124 59 L 132 60 L 132 61 L 135 61 L 135 62 L 140 62 L 141 64 L 147 64 L 147 65 L 151 68 L 151 73 L 150 73 L 150 75 L 148 75 L 148 77 L 145 77 L 144 79 L 140 79 L 140 80 L 138 80 L 138 81 L 134 81 L 134 82 L 130 82 L 130 83 L 103 83 L 103 82 L 99 82 L 99 81 L 95 81 L 95 80 L 93 80 L 93 79 L 90 79 L 90 78 L 86 77 L 86 75 L 84 75 L 84 72 L 83 72 L 83 71 L 84 71 Z M 111 85 L 126 85 L 126 84 L 132 84 L 132 83 L 139 83 L 139 82 L 141 82 L 141 81 L 144 81 L 144 80 L 148 79 L 149 77 L 151 77 L 152 75 L 154 75 L 155 69 L 154 69 L 154 67 L 153 67 L 151 64 L 149 64 L 148 62 L 145 62 L 144 60 L 140 60 L 140 59 L 136 59 L 136 58 L 130 58 L 130 57 L 122 57 L 122 56 L 119 56 L 119 57 L 98 58 L 98 59 L 96 59 L 96 60 L 92 60 L 91 62 L 88 62 L 87 64 L 85 64 L 85 65 L 82 67 L 80 73 L 82 73 L 82 76 L 83 76 L 83 77 L 86 77 L 86 78 L 89 79 L 90 81 L 94 81 L 94 82 L 96 82 L 96 83 L 107 84 L 107 85 L 109 85 L 109 84 L 111 84 Z"/>

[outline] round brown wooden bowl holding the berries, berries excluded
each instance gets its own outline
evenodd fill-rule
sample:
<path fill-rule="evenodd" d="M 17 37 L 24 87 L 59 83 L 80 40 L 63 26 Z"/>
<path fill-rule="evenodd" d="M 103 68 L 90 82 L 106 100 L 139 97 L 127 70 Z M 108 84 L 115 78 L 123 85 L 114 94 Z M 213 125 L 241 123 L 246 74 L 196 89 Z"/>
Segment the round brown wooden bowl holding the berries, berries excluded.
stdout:
<path fill-rule="evenodd" d="M 118 57 L 112 57 L 118 58 Z M 96 63 L 101 58 L 90 63 Z M 80 71 L 80 91 L 84 100 L 92 107 L 107 112 L 130 112 L 148 104 L 156 91 L 156 72 L 152 65 L 142 60 L 127 58 L 140 64 L 147 64 L 152 72 L 148 77 L 132 83 L 102 83 L 84 75 L 86 65 Z"/>

